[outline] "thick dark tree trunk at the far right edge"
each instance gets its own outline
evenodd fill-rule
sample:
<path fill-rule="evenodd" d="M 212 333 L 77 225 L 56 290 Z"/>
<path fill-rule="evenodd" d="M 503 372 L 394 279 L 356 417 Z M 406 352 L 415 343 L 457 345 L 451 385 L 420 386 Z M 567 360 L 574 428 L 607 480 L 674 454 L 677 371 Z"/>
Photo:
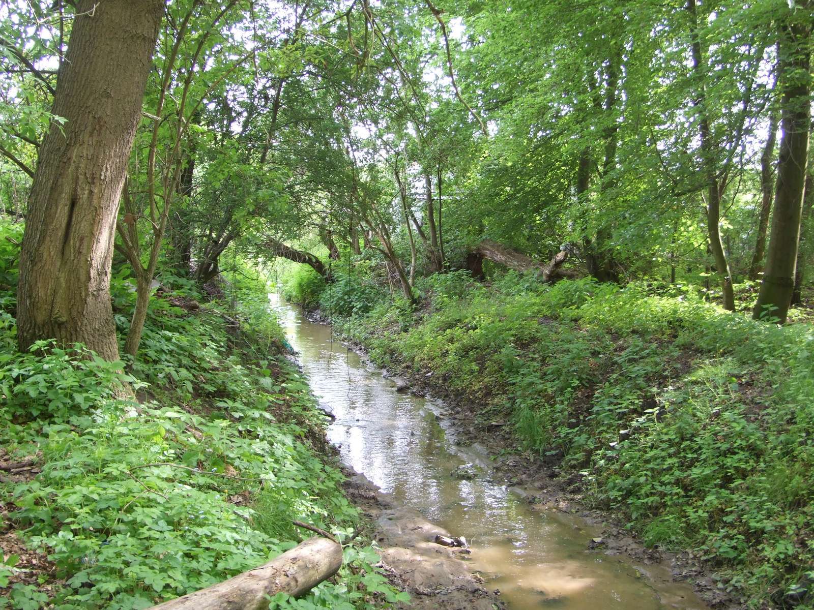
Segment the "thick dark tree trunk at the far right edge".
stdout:
<path fill-rule="evenodd" d="M 804 8 L 811 6 L 806 2 Z M 796 15 L 790 18 L 794 19 Z M 783 135 L 777 163 L 777 190 L 772 211 L 772 233 L 768 244 L 764 279 L 753 316 L 764 313 L 777 317 L 781 324 L 789 313 L 794 291 L 794 270 L 803 213 L 806 180 L 808 129 L 811 123 L 809 75 L 811 25 L 803 22 L 783 28 L 778 45 L 781 58 L 779 79 Z M 771 310 L 771 311 L 769 311 Z"/>

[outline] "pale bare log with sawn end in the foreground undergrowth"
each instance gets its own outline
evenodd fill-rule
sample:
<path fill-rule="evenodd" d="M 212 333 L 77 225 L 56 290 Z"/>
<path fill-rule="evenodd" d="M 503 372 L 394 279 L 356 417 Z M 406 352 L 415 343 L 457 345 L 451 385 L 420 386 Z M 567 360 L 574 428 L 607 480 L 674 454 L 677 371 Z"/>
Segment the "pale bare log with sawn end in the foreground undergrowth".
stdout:
<path fill-rule="evenodd" d="M 151 610 L 260 610 L 266 595 L 303 595 L 342 565 L 342 547 L 327 538 L 309 538 L 274 560 L 228 581 L 153 606 Z"/>

